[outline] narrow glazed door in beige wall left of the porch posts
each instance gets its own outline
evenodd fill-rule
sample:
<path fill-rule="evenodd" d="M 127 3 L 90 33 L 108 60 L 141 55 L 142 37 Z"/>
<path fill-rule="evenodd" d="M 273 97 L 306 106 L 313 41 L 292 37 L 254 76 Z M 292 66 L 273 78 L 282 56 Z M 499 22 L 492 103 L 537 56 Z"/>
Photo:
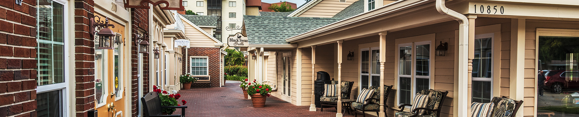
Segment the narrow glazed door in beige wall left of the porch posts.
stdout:
<path fill-rule="evenodd" d="M 283 53 L 282 67 L 283 67 L 283 97 L 285 101 L 291 101 L 291 52 Z"/>

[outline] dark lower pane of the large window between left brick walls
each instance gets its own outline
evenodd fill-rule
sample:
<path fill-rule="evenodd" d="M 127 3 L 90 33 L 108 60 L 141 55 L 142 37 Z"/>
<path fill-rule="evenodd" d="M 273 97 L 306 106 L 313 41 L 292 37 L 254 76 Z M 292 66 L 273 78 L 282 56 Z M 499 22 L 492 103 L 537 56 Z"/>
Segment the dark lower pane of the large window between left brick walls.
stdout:
<path fill-rule="evenodd" d="M 36 115 L 39 117 L 63 116 L 62 90 L 36 94 Z"/>

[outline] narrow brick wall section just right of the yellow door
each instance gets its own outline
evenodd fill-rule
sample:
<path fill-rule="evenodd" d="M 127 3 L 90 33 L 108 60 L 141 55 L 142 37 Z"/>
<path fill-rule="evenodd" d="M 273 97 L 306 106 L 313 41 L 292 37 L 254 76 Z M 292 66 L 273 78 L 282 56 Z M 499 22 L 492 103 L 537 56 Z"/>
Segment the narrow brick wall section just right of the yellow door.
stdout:
<path fill-rule="evenodd" d="M 138 115 L 138 70 L 143 70 L 142 80 L 143 80 L 143 94 L 149 92 L 149 54 L 143 54 L 143 68 L 138 68 L 138 46 L 135 45 L 135 37 L 137 37 L 137 29 L 142 31 L 149 31 L 149 10 L 148 9 L 133 9 L 131 12 L 131 114 L 133 117 Z M 148 35 L 146 33 L 141 35 Z M 150 40 L 146 40 L 151 43 Z M 150 46 L 149 46 L 150 47 Z"/>

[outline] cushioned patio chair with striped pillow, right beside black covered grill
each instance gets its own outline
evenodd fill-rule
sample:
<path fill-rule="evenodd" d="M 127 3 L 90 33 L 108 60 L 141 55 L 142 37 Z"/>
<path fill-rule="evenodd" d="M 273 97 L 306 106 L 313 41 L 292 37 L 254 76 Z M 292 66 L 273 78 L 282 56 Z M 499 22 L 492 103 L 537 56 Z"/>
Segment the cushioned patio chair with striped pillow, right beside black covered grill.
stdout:
<path fill-rule="evenodd" d="M 337 84 L 338 81 L 332 81 L 332 84 Z M 350 99 L 350 93 L 352 92 L 352 86 L 354 82 L 350 81 L 342 81 L 341 88 L 342 88 L 342 99 Z M 334 107 L 337 109 L 338 107 L 338 97 L 320 97 L 321 102 L 321 111 L 324 111 L 325 108 Z"/>

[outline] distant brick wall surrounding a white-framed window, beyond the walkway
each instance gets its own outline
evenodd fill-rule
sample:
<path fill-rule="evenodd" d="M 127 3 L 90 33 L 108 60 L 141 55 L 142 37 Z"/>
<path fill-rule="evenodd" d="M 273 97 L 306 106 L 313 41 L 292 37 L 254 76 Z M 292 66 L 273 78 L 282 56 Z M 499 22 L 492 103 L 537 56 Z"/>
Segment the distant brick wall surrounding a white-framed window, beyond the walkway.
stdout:
<path fill-rule="evenodd" d="M 191 47 L 188 49 L 188 56 L 185 57 L 185 54 L 182 56 L 183 58 L 186 58 L 188 62 L 182 62 L 183 67 L 181 67 L 182 69 L 182 74 L 185 74 L 185 72 L 189 71 L 190 68 L 188 69 L 188 67 L 190 67 L 190 58 L 189 56 L 208 56 L 209 60 L 208 60 L 208 66 L 209 67 L 209 76 L 211 76 L 211 87 L 219 87 L 219 74 L 221 73 L 220 69 L 221 66 L 221 58 L 219 58 L 219 55 L 221 55 L 219 53 L 219 48 L 208 48 L 208 47 Z M 185 49 L 181 50 L 181 53 L 185 53 Z M 207 87 L 207 85 L 209 85 L 208 83 L 193 83 L 192 86 L 193 87 Z"/>

